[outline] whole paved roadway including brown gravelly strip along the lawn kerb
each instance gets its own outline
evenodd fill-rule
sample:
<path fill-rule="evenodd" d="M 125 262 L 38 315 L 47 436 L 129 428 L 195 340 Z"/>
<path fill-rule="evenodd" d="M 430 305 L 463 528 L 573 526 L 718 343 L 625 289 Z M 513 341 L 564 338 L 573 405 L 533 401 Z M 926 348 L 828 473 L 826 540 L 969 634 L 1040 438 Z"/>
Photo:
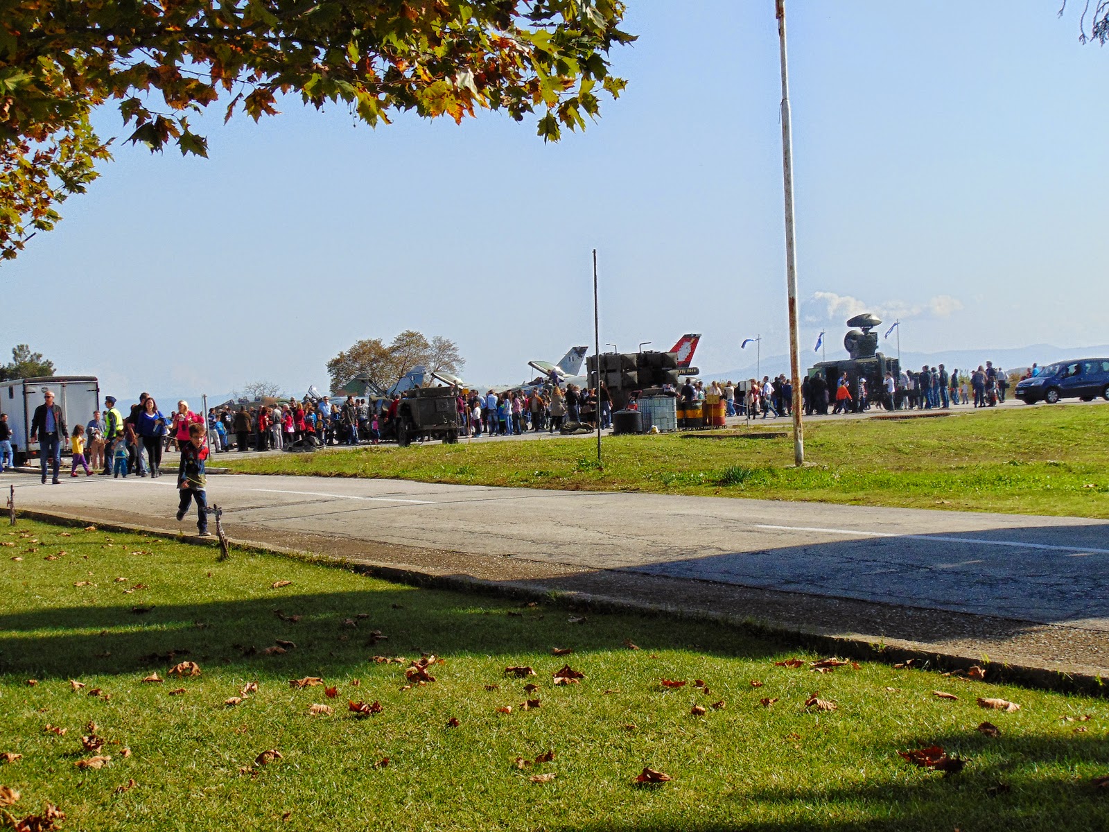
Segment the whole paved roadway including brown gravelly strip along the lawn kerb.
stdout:
<path fill-rule="evenodd" d="M 28 516 L 181 529 L 156 481 L 19 484 Z M 220 477 L 210 498 L 238 546 L 393 580 L 715 619 L 863 658 L 988 657 L 994 678 L 1055 688 L 1101 692 L 1109 676 L 1095 520 L 321 477 Z"/>

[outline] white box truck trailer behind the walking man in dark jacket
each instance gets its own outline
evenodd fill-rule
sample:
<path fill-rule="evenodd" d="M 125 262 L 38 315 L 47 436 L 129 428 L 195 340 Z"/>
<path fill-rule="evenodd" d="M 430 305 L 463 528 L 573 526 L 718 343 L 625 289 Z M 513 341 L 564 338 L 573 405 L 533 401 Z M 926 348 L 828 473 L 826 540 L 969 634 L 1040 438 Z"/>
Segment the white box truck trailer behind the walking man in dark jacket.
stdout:
<path fill-rule="evenodd" d="M 47 390 L 54 394 L 54 404 L 61 405 L 65 425 L 85 425 L 94 410 L 100 409 L 100 383 L 95 376 L 50 376 L 48 378 L 12 378 L 0 382 L 0 413 L 8 414 L 11 426 L 11 447 L 16 465 L 38 457 L 39 443 L 31 439 L 31 418 L 34 408 L 45 402 Z M 69 453 L 69 444 L 62 446 Z"/>

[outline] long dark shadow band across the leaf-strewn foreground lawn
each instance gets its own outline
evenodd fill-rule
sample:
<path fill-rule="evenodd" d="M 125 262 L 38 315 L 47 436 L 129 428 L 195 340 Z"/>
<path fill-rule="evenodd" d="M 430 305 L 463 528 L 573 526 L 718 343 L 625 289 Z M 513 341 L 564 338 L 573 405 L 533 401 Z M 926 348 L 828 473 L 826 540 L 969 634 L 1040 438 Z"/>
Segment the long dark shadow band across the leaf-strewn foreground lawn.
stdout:
<path fill-rule="evenodd" d="M 146 612 L 130 605 L 65 607 L 0 615 L 0 672 L 74 678 L 189 659 L 335 674 L 375 655 L 511 656 L 554 646 L 584 652 L 623 649 L 629 638 L 644 649 L 693 648 L 742 658 L 779 649 L 729 628 L 623 615 L 590 615 L 588 623 L 572 625 L 571 615 L 553 605 L 408 588 L 154 606 Z M 376 638 L 375 630 L 385 638 Z M 262 653 L 278 640 L 295 647 L 284 655 Z"/>

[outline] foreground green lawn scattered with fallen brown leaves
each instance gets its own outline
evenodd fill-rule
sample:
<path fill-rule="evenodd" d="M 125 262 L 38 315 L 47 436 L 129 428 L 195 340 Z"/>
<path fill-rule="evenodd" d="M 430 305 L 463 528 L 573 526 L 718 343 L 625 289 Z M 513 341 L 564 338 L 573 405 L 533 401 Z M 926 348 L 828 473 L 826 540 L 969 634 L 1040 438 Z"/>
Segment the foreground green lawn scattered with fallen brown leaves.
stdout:
<path fill-rule="evenodd" d="M 167 540 L 30 521 L 17 531 L 29 536 L 0 530 L 16 544 L 0 549 L 0 754 L 22 755 L 0 762 L 0 787 L 22 795 L 4 810 L 16 819 L 49 803 L 63 830 L 1109 824 L 1095 780 L 1109 774 L 1103 700 L 993 686 L 988 670 L 987 681 L 868 663 L 820 673 L 775 666 L 796 653 L 720 626 L 574 622 L 553 602 L 394 586 L 276 556 L 217 562 L 214 548 Z M 295 647 L 265 652 L 281 642 Z M 421 652 L 444 663 L 406 689 Z M 182 661 L 201 674 L 170 676 Z M 556 686 L 567 663 L 584 678 Z M 164 681 L 144 682 L 153 672 Z M 289 684 L 307 677 L 325 683 Z M 251 682 L 257 690 L 241 693 Z M 816 691 L 836 710 L 806 708 Z M 987 711 L 978 697 L 1021 708 Z M 380 710 L 359 717 L 349 700 Z M 334 713 L 312 716 L 313 704 Z M 984 720 L 1000 735 L 976 730 Z M 83 748 L 91 734 L 99 751 Z M 966 768 L 945 775 L 897 754 L 933 743 Z M 267 750 L 281 759 L 255 763 Z M 77 765 L 94 755 L 111 761 Z M 638 787 L 644 767 L 673 779 Z"/>

